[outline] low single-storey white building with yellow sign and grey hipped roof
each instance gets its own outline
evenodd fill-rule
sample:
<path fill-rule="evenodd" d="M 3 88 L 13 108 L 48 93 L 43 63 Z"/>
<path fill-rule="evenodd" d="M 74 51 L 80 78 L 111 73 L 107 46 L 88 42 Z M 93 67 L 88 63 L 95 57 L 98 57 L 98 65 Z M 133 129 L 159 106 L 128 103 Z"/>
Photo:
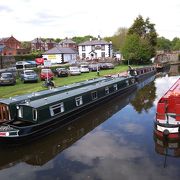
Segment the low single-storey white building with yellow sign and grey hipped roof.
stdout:
<path fill-rule="evenodd" d="M 68 47 L 56 46 L 43 53 L 43 58 L 50 60 L 52 64 L 56 63 L 74 63 L 78 52 Z"/>

